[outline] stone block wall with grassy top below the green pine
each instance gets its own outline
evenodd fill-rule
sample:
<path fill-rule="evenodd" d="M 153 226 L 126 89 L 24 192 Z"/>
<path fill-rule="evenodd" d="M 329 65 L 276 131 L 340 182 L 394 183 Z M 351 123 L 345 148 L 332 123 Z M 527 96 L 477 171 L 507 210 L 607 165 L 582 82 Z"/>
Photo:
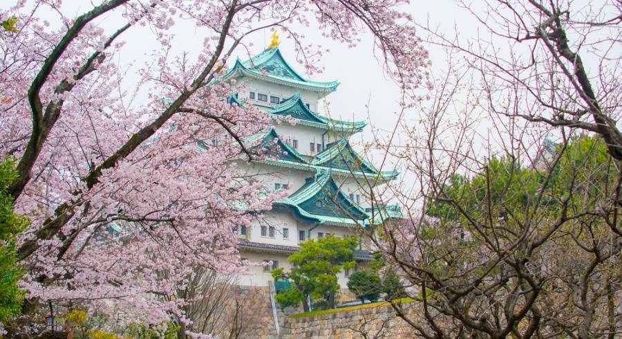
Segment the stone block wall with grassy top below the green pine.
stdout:
<path fill-rule="evenodd" d="M 413 316 L 415 309 L 410 307 L 404 304 L 405 313 Z M 282 339 L 415 338 L 412 328 L 391 306 L 286 318 L 280 334 Z"/>

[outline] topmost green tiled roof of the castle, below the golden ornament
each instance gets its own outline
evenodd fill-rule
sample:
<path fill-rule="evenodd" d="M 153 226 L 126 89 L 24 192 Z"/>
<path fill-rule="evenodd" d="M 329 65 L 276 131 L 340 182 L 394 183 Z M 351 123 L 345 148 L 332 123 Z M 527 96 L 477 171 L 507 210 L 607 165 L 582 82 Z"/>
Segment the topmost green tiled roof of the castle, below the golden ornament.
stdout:
<path fill-rule="evenodd" d="M 230 77 L 236 72 L 250 77 L 258 77 L 290 86 L 298 86 L 314 91 L 332 92 L 339 86 L 338 81 L 317 82 L 303 77 L 285 61 L 279 47 L 268 48 L 245 62 L 236 59 L 236 63 L 222 77 Z"/>

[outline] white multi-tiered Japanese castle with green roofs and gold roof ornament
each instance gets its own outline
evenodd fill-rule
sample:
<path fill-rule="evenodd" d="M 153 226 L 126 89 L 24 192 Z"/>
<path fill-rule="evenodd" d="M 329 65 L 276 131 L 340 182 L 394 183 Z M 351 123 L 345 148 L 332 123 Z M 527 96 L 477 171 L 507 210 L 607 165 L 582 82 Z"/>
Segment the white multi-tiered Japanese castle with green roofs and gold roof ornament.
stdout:
<path fill-rule="evenodd" d="M 288 192 L 252 227 L 238 226 L 235 230 L 243 259 L 272 262 L 270 266 L 250 266 L 238 284 L 272 285 L 270 270 L 283 267 L 287 272 L 291 268 L 288 256 L 303 241 L 329 234 L 355 235 L 357 226 L 367 227 L 372 219 L 381 222 L 367 199 L 370 186 L 386 183 L 397 172 L 378 171 L 350 146 L 348 139 L 366 122 L 335 120 L 318 113 L 319 101 L 334 92 L 339 82 L 318 82 L 301 75 L 281 54 L 275 34 L 265 51 L 244 62 L 237 59 L 222 77 L 243 84 L 232 102 L 253 104 L 274 117 L 272 128 L 249 142 L 277 151 L 254 161 L 248 171 L 268 187 Z M 287 116 L 296 121 L 280 119 Z M 399 213 L 395 207 L 383 210 L 384 214 Z M 359 265 L 371 259 L 362 241 L 355 257 Z M 350 273 L 339 273 L 341 288 L 346 288 Z"/>

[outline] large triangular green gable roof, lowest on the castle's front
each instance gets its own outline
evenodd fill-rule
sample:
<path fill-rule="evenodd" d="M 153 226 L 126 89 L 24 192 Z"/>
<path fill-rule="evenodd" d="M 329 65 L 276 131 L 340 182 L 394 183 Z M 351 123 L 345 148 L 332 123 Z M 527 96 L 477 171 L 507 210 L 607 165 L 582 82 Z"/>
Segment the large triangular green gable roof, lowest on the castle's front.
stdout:
<path fill-rule="evenodd" d="M 317 223 L 353 226 L 364 225 L 368 219 L 365 210 L 348 199 L 326 171 L 307 178 L 305 185 L 280 199 L 275 208 L 288 209 L 295 217 Z"/>

